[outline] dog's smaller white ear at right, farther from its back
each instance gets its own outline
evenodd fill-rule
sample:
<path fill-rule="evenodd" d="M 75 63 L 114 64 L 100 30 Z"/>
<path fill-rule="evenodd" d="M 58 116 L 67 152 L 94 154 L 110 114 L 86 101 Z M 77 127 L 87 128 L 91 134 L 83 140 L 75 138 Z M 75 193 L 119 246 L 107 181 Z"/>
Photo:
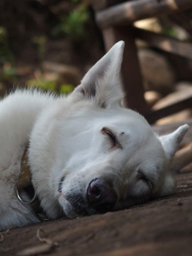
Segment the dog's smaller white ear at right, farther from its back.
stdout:
<path fill-rule="evenodd" d="M 188 130 L 188 127 L 188 124 L 181 125 L 175 132 L 159 137 L 169 160 L 173 159 L 183 136 Z"/>

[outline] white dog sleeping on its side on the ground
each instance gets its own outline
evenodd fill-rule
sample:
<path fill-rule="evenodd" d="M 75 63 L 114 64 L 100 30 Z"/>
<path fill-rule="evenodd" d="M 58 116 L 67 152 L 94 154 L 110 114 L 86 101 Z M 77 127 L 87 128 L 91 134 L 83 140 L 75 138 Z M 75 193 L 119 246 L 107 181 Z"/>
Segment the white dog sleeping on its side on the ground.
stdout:
<path fill-rule="evenodd" d="M 0 230 L 39 222 L 25 202 L 30 193 L 23 188 L 16 195 L 27 144 L 32 183 L 49 219 L 173 193 L 169 165 L 188 125 L 158 136 L 141 115 L 121 106 L 123 47 L 118 42 L 66 98 L 17 91 L 0 102 Z"/>

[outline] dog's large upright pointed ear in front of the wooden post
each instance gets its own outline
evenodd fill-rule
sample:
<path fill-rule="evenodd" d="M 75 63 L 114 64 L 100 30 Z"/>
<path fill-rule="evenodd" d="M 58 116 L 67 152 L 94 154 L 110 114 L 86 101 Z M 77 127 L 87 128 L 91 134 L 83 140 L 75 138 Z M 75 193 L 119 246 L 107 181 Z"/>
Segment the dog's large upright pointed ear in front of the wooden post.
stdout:
<path fill-rule="evenodd" d="M 93 100 L 101 108 L 123 98 L 120 69 L 124 42 L 119 41 L 83 77 L 71 97 Z"/>

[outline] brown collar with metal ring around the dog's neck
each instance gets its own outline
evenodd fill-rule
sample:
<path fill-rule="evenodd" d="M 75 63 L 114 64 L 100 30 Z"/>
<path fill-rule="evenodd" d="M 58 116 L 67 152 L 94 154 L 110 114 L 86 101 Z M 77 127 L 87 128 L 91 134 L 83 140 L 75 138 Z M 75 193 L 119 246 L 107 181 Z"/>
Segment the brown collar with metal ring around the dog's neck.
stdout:
<path fill-rule="evenodd" d="M 24 192 L 28 195 L 29 199 L 22 198 L 21 194 Z M 30 166 L 28 163 L 28 146 L 22 157 L 20 164 L 20 176 L 15 186 L 15 195 L 17 200 L 24 204 L 30 205 L 35 214 L 40 220 L 48 220 L 42 212 L 40 201 L 38 200 L 34 181 L 31 179 Z"/>

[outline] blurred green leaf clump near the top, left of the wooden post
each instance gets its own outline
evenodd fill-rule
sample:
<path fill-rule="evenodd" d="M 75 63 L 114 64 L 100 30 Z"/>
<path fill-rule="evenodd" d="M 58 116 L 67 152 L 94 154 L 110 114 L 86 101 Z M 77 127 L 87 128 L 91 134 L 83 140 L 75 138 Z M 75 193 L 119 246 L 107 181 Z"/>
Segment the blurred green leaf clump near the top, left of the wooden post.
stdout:
<path fill-rule="evenodd" d="M 81 4 L 78 8 L 72 10 L 67 16 L 60 17 L 60 23 L 53 29 L 52 34 L 59 36 L 68 35 L 73 41 L 83 38 L 85 33 L 85 24 L 89 19 L 87 5 Z"/>

